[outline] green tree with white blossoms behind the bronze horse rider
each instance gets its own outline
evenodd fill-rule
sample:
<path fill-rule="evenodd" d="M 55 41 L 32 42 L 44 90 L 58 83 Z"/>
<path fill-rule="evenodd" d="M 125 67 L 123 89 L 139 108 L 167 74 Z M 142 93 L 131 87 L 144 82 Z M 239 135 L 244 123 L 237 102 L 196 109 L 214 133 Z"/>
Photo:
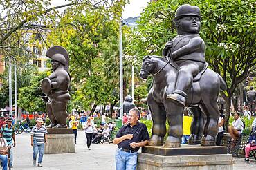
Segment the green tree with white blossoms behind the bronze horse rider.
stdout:
<path fill-rule="evenodd" d="M 189 3 L 201 8 L 201 37 L 207 46 L 205 59 L 228 84 L 226 117 L 230 113 L 232 95 L 256 62 L 255 1 L 243 0 L 159 0 L 149 3 L 134 30 L 131 53 L 138 56 L 161 55 L 168 39 L 176 35 L 174 12 Z M 228 121 L 227 121 L 228 122 Z"/>

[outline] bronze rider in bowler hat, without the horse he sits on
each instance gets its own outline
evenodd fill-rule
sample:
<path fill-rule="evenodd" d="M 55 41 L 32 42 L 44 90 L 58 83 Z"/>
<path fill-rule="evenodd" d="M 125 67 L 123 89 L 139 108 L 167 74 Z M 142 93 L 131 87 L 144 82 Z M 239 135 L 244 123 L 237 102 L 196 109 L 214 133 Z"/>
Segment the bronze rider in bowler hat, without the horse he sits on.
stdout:
<path fill-rule="evenodd" d="M 199 36 L 200 19 L 200 9 L 197 6 L 180 6 L 174 19 L 178 35 L 167 42 L 163 49 L 163 56 L 172 57 L 179 65 L 175 90 L 168 91 L 170 94 L 167 99 L 182 106 L 185 106 L 193 77 L 205 67 L 205 43 Z"/>

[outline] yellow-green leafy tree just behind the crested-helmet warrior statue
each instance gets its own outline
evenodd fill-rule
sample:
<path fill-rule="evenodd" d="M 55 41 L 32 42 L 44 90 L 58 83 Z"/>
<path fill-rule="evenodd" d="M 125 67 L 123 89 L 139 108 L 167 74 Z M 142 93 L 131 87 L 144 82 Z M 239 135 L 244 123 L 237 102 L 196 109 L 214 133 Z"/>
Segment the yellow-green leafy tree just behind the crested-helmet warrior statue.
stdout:
<path fill-rule="evenodd" d="M 102 41 L 118 34 L 118 21 L 125 1 L 115 1 L 109 8 L 72 8 L 66 10 L 60 24 L 52 29 L 48 44 L 68 50 L 73 77 L 73 106 L 93 109 L 113 99 L 111 86 L 104 79 Z"/>

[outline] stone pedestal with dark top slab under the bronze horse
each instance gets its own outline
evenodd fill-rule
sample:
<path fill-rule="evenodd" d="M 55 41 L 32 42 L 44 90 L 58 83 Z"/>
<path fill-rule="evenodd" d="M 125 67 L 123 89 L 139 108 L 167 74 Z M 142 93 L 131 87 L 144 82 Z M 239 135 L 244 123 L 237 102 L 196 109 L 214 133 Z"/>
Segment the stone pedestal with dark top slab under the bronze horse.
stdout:
<path fill-rule="evenodd" d="M 181 148 L 164 148 L 148 146 L 143 149 L 143 153 L 138 153 L 137 169 L 232 170 L 234 163 L 232 155 L 226 154 L 226 147 L 182 145 Z"/>

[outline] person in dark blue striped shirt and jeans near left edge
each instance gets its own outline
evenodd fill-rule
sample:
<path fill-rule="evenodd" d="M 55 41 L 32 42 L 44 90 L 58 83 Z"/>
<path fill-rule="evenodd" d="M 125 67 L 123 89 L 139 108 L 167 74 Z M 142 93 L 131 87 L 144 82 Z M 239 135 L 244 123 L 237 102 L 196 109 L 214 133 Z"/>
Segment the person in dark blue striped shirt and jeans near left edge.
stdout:
<path fill-rule="evenodd" d="M 8 118 L 7 124 L 4 124 L 1 127 L 1 133 L 3 133 L 3 138 L 6 139 L 8 143 L 8 147 L 10 148 L 10 167 L 12 166 L 13 162 L 13 147 L 16 145 L 16 140 L 15 140 L 15 129 L 14 126 L 12 126 L 12 118 Z M 13 141 L 13 142 L 12 142 Z"/>

